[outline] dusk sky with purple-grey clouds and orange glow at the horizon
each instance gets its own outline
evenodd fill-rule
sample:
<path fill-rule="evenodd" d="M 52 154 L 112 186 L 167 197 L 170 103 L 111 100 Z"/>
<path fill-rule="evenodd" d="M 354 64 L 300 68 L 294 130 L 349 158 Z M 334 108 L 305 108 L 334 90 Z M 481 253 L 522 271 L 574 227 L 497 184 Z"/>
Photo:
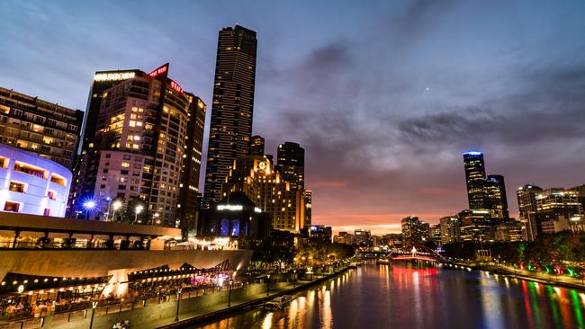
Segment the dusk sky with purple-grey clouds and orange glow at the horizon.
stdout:
<path fill-rule="evenodd" d="M 255 30 L 254 134 L 305 147 L 313 223 L 454 215 L 469 149 L 514 217 L 518 186 L 585 183 L 582 0 L 79 3 L 2 3 L 0 85 L 85 110 L 95 71 L 168 61 L 209 126 L 218 31 Z"/>

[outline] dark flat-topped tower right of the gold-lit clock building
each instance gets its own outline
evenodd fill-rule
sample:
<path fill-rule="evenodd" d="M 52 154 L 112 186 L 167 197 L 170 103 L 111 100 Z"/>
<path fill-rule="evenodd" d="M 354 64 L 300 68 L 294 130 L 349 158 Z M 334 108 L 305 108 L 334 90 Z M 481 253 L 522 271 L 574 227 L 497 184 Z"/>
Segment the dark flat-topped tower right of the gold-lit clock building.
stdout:
<path fill-rule="evenodd" d="M 297 143 L 284 142 L 276 152 L 276 171 L 294 190 L 305 187 L 305 149 Z"/>

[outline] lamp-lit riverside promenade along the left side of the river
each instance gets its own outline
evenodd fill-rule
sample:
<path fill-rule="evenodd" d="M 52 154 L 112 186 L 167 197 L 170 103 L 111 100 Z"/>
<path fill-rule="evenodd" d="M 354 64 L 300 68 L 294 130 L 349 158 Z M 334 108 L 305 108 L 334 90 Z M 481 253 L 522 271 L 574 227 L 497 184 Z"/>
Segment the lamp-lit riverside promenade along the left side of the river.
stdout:
<path fill-rule="evenodd" d="M 52 315 L 26 321 L 0 324 L 0 329 L 34 329 L 48 327 L 55 329 L 93 328 L 111 329 L 119 320 L 129 320 L 130 328 L 178 328 L 194 325 L 221 316 L 227 316 L 245 307 L 261 304 L 284 294 L 292 294 L 307 289 L 321 281 L 329 280 L 347 271 L 349 266 L 330 267 L 329 272 L 319 277 L 311 275 L 311 280 L 289 280 L 284 282 L 249 283 L 238 289 L 226 285 L 219 290 L 197 297 L 181 296 L 178 301 L 178 321 L 176 295 L 168 296 L 166 301 L 148 299 L 141 303 L 129 303 L 107 307 L 87 308 L 63 317 Z M 268 288 L 269 287 L 269 288 Z M 228 307 L 228 301 L 230 306 Z M 93 318 L 93 319 L 92 319 Z"/>

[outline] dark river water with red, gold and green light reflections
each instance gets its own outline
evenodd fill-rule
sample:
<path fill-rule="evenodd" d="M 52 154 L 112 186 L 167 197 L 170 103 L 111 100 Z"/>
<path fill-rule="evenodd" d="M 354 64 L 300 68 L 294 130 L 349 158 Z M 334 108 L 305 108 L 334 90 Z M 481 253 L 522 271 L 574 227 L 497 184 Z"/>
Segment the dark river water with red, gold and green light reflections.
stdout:
<path fill-rule="evenodd" d="M 195 328 L 585 328 L 585 293 L 485 271 L 365 264 L 297 294 Z"/>

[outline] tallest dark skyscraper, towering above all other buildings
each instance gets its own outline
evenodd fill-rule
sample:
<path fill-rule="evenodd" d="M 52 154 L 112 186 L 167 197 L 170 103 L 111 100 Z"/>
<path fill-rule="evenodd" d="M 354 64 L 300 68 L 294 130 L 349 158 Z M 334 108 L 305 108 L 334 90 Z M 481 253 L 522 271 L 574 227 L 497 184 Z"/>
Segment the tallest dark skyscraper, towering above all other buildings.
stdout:
<path fill-rule="evenodd" d="M 205 200 L 220 200 L 221 184 L 234 160 L 250 150 L 256 31 L 241 26 L 220 31 L 211 105 L 211 130 L 205 172 Z"/>

